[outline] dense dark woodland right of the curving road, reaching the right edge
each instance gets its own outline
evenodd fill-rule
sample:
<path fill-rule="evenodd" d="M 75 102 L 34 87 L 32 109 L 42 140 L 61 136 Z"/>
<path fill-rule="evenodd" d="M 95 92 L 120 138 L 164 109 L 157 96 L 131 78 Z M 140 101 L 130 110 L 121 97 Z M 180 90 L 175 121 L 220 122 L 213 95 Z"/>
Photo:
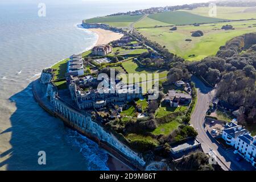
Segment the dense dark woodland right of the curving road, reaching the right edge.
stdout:
<path fill-rule="evenodd" d="M 245 34 L 220 47 L 216 56 L 187 65 L 192 74 L 216 86 L 216 96 L 240 107 L 241 123 L 256 121 L 256 34 Z"/>

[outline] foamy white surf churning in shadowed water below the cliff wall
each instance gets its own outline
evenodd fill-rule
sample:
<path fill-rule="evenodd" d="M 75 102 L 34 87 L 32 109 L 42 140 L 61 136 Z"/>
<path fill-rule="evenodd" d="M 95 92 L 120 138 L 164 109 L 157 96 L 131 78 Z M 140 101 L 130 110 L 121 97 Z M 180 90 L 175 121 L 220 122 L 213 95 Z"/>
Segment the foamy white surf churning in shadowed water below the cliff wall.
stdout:
<path fill-rule="evenodd" d="M 108 153 L 98 147 L 97 143 L 71 129 L 68 129 L 67 140 L 73 147 L 80 148 L 80 153 L 86 158 L 86 161 L 88 161 L 88 170 L 109 171 L 106 164 L 108 161 Z"/>

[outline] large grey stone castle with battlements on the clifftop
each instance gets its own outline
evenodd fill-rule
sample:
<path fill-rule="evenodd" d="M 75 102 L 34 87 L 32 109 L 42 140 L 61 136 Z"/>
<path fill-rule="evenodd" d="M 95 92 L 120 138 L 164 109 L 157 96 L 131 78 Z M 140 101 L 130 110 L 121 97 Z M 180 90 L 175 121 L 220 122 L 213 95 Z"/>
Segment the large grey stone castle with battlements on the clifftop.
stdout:
<path fill-rule="evenodd" d="M 126 104 L 127 101 L 142 97 L 142 89 L 138 85 L 126 86 L 112 79 L 99 81 L 92 76 L 70 76 L 68 84 L 72 100 L 79 109 L 100 109 L 109 104 Z"/>

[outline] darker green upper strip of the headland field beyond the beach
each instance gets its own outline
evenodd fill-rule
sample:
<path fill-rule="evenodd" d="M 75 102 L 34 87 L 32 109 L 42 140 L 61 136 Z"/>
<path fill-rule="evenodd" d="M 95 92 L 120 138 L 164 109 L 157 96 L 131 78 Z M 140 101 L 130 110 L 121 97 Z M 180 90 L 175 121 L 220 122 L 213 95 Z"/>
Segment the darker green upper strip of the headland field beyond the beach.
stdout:
<path fill-rule="evenodd" d="M 143 15 L 117 15 L 117 16 L 102 16 L 97 18 L 86 19 L 86 23 L 105 23 L 105 22 L 136 22 Z"/>

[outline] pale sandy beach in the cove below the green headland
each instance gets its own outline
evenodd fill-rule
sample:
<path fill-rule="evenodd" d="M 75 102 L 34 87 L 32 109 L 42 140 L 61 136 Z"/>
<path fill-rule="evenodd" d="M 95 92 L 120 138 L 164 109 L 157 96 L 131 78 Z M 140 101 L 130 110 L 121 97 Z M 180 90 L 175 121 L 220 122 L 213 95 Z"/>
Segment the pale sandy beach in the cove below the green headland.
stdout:
<path fill-rule="evenodd" d="M 88 30 L 98 35 L 96 46 L 101 44 L 108 44 L 114 40 L 121 39 L 123 36 L 123 34 L 119 34 L 110 30 L 104 30 L 101 28 L 89 28 Z"/>

